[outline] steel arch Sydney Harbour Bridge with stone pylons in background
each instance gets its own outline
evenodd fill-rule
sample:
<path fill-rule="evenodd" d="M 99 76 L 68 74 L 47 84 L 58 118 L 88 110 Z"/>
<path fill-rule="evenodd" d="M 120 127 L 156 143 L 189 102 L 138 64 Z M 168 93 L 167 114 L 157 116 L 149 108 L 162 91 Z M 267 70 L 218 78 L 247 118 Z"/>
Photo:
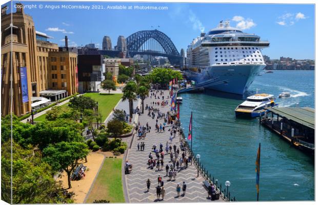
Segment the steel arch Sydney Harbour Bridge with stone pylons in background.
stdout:
<path fill-rule="evenodd" d="M 159 30 L 138 31 L 127 38 L 119 36 L 114 49 L 111 46 L 110 37 L 104 36 L 102 53 L 114 57 L 118 52 L 123 52 L 125 57 L 139 55 L 151 55 L 167 57 L 171 65 L 185 64 L 184 50 L 178 52 L 172 40 Z"/>

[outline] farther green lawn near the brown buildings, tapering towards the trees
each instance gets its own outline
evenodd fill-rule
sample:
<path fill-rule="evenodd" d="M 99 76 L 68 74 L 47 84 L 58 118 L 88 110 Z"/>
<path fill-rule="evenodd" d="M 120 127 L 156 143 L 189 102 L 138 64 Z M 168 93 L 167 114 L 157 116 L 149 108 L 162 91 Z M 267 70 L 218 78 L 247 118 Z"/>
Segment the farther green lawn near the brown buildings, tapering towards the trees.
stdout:
<path fill-rule="evenodd" d="M 118 101 L 123 97 L 123 94 L 100 95 L 100 93 L 85 93 L 85 96 L 91 97 L 98 102 L 98 110 L 100 110 L 103 115 L 102 121 L 105 121 Z"/>

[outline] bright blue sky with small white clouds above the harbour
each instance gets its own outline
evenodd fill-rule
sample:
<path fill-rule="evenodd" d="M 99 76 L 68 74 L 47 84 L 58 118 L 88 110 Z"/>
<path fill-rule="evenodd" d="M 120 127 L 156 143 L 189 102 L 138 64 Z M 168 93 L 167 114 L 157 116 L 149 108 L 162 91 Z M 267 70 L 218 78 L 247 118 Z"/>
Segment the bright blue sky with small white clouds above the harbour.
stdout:
<path fill-rule="evenodd" d="M 260 35 L 270 41 L 263 54 L 271 58 L 280 56 L 296 59 L 314 59 L 314 5 L 300 4 L 195 4 L 195 3 L 107 3 L 107 2 L 22 2 L 37 5 L 25 8 L 33 17 L 35 28 L 64 45 L 61 40 L 68 35 L 70 45 L 95 43 L 102 45 L 104 35 L 110 36 L 115 46 L 118 35 L 128 37 L 140 30 L 158 30 L 166 33 L 178 51 L 186 49 L 201 31 L 217 26 L 222 19 L 229 19 L 233 27 L 247 33 Z M 58 9 L 43 8 L 42 4 Z M 62 5 L 85 5 L 90 9 L 62 9 Z M 167 10 L 92 9 L 103 6 L 166 6 Z"/>

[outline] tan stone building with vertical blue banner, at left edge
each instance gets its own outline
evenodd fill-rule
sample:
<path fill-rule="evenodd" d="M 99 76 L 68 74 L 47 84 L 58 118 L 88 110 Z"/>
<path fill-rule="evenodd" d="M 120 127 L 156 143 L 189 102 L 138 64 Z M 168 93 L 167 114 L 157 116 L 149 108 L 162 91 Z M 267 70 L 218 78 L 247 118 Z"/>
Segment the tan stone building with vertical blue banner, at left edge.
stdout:
<path fill-rule="evenodd" d="M 50 36 L 35 30 L 33 19 L 30 15 L 24 13 L 23 5 L 21 3 L 16 5 L 16 12 L 7 14 L 6 8 L 3 7 L 4 12 L 1 14 L 2 116 L 10 114 L 11 105 L 13 114 L 17 116 L 31 112 L 31 109 L 37 109 L 38 107 L 32 103 L 46 90 L 56 91 L 61 89 L 65 92 L 65 94 L 62 94 L 60 91 L 56 91 L 57 99 L 77 92 L 76 83 L 73 83 L 76 82 L 77 54 L 69 54 L 69 51 L 61 52 L 57 44 L 48 41 Z M 56 57 L 56 63 L 51 62 L 51 57 Z M 57 62 L 60 57 L 64 57 L 62 59 L 66 61 L 68 57 L 73 58 L 71 59 L 73 63 L 62 63 L 65 66 L 63 67 L 65 71 L 62 73 L 68 77 L 61 80 L 60 85 L 56 81 L 57 87 L 53 87 L 52 82 L 56 75 L 54 75 L 53 80 L 52 72 L 54 74 L 57 74 L 57 72 L 55 73 L 55 67 L 52 71 L 52 65 L 55 64 L 57 70 L 59 65 L 57 65 Z M 66 87 L 62 87 L 62 83 L 66 83 L 63 84 Z M 10 97 L 11 88 L 12 101 Z M 53 97 L 52 100 L 54 99 Z"/>

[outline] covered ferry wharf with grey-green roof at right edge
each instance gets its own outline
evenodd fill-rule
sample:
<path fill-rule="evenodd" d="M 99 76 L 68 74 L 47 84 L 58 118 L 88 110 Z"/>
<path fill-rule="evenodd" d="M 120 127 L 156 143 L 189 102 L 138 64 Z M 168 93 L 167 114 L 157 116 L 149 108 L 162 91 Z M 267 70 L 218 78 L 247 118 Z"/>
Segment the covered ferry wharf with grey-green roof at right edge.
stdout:
<path fill-rule="evenodd" d="M 267 108 L 260 122 L 294 147 L 314 154 L 314 109 Z"/>

